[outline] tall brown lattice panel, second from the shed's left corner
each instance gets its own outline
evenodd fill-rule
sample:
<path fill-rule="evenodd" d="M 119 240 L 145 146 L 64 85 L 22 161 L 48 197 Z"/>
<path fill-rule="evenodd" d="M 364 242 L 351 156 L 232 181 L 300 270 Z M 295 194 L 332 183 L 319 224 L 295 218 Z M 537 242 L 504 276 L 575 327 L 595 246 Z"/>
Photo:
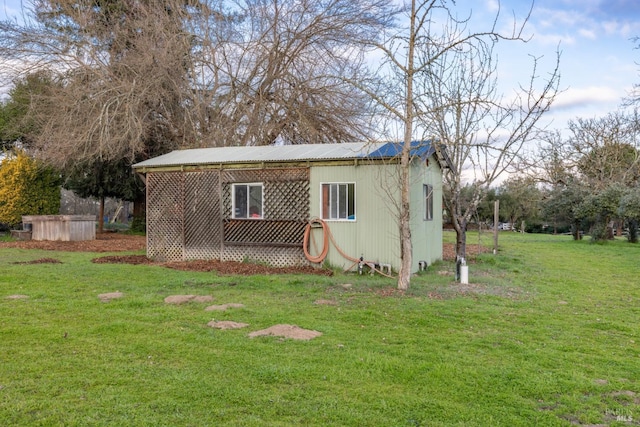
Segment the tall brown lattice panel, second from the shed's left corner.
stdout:
<path fill-rule="evenodd" d="M 185 174 L 184 257 L 187 260 L 220 257 L 219 182 L 220 173 L 216 170 Z"/>

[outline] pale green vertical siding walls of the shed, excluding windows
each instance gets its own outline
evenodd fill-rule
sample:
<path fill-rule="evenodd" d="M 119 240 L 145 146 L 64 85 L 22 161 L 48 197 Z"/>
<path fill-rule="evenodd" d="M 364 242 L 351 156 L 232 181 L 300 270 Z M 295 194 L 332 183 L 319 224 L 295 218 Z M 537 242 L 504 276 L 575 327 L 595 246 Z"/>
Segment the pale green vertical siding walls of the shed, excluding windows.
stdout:
<path fill-rule="evenodd" d="M 352 258 L 400 266 L 398 240 L 397 165 L 314 166 L 310 172 L 311 217 L 321 217 L 322 183 L 354 182 L 356 184 L 356 220 L 327 221 L 337 246 Z M 411 170 L 412 239 L 414 261 L 412 271 L 418 270 L 418 261 L 429 264 L 442 258 L 442 177 L 433 159 L 427 167 L 416 162 Z M 434 186 L 434 218 L 423 221 L 424 203 L 422 185 Z M 314 230 L 312 239 L 322 246 L 320 230 Z M 313 242 L 311 244 L 313 248 Z M 312 251 L 315 252 L 315 251 Z M 330 245 L 326 261 L 333 266 L 348 268 L 352 261 L 345 259 Z"/>

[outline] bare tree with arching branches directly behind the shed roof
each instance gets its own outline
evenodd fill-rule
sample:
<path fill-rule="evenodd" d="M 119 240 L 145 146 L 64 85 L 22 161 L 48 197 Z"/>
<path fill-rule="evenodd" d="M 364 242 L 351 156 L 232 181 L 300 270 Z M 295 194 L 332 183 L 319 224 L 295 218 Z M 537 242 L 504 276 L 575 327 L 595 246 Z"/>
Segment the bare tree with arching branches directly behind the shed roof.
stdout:
<path fill-rule="evenodd" d="M 369 102 L 346 78 L 363 67 L 359 39 L 387 25 L 381 0 L 239 0 L 209 32 L 201 87 L 217 145 L 360 140 Z"/>

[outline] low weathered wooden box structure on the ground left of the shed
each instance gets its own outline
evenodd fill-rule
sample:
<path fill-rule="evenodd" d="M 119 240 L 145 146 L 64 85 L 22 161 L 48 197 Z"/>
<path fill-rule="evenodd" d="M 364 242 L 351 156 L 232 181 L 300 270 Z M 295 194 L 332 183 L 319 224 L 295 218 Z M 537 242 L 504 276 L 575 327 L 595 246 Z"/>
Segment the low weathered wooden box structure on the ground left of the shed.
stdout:
<path fill-rule="evenodd" d="M 31 224 L 32 240 L 95 240 L 95 215 L 28 215 L 23 224 Z"/>

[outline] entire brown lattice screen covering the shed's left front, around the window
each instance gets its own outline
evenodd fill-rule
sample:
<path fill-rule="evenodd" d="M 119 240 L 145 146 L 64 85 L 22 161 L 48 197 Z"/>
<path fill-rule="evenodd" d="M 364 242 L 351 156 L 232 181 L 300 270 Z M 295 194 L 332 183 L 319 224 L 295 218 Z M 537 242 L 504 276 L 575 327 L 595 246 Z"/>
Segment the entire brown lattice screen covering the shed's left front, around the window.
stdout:
<path fill-rule="evenodd" d="M 231 219 L 231 184 L 241 182 L 264 184 L 263 219 Z M 147 197 L 147 252 L 154 259 L 307 263 L 308 169 L 149 173 Z"/>

